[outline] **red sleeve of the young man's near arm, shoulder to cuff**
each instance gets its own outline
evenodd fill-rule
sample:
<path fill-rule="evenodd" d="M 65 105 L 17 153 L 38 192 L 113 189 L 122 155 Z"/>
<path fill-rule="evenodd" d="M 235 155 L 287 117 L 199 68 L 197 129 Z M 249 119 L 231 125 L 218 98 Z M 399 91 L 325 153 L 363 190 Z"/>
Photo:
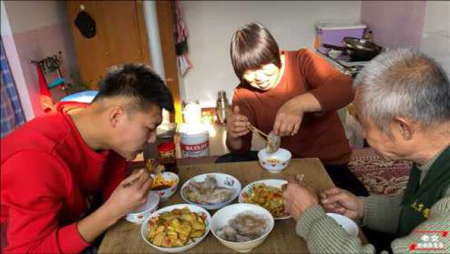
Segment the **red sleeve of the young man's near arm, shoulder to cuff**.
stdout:
<path fill-rule="evenodd" d="M 59 222 L 72 183 L 56 159 L 44 152 L 20 152 L 1 171 L 1 205 L 8 209 L 6 252 L 78 253 L 90 245 L 75 223 Z"/>

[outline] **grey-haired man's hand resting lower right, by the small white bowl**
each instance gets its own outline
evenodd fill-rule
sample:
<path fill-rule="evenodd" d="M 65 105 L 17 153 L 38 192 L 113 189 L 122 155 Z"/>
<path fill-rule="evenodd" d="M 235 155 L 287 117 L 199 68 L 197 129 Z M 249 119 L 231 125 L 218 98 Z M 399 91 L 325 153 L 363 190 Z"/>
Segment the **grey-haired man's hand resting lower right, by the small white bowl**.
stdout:
<path fill-rule="evenodd" d="M 363 200 L 341 188 L 331 188 L 320 193 L 322 205 L 327 212 L 343 214 L 351 219 L 364 216 Z"/>

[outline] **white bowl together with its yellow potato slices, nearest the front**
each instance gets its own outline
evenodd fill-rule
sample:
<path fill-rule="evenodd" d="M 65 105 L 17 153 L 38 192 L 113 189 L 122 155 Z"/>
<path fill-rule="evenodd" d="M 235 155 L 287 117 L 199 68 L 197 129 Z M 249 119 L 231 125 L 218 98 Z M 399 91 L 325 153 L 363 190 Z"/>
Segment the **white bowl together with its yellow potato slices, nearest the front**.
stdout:
<path fill-rule="evenodd" d="M 153 248 L 167 253 L 189 250 L 209 233 L 211 215 L 197 205 L 178 204 L 154 212 L 140 234 Z"/>

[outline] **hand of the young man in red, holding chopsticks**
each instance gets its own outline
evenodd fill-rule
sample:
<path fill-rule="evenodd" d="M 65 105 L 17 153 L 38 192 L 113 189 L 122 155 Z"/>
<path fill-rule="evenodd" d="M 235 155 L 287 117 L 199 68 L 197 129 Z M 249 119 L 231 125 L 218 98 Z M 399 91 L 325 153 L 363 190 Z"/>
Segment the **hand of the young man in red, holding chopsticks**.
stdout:
<path fill-rule="evenodd" d="M 121 181 L 104 205 L 111 213 L 114 213 L 114 217 L 120 219 L 147 201 L 147 193 L 151 185 L 152 178 L 145 169 L 140 169 Z"/>

